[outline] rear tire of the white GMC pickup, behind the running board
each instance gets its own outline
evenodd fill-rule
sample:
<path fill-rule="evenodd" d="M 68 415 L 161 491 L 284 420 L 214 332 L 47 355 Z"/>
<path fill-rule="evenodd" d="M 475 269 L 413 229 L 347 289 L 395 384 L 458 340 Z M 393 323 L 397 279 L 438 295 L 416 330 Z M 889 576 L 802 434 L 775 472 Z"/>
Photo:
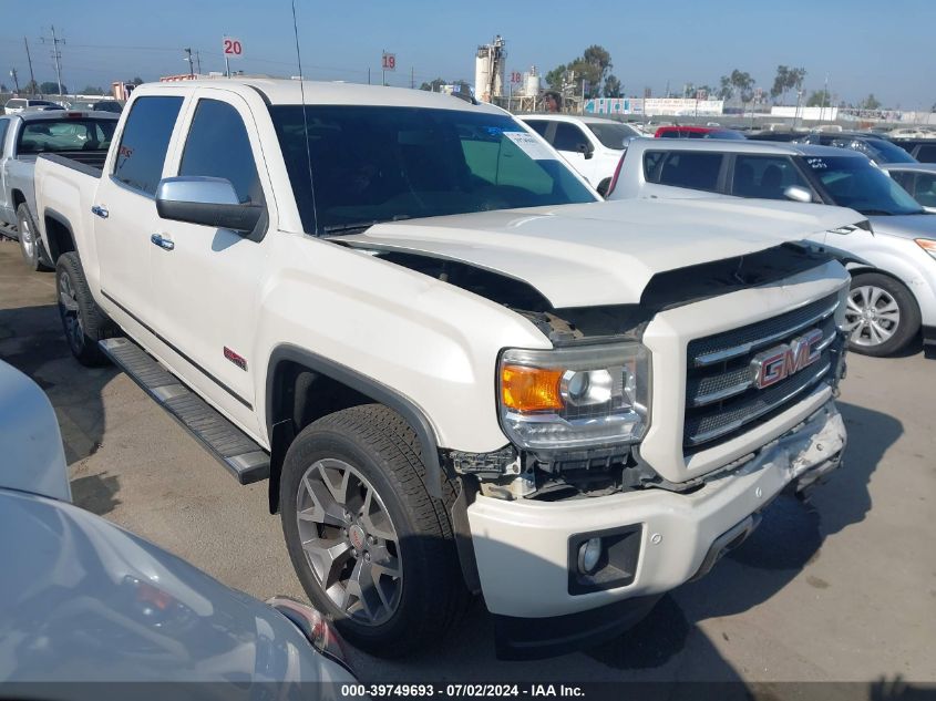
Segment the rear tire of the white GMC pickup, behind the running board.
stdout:
<path fill-rule="evenodd" d="M 97 341 L 111 338 L 116 327 L 101 311 L 81 267 L 78 254 L 70 251 L 59 256 L 55 265 L 55 290 L 59 295 L 59 317 L 72 355 L 89 368 L 107 364 L 107 357 L 101 352 Z"/>

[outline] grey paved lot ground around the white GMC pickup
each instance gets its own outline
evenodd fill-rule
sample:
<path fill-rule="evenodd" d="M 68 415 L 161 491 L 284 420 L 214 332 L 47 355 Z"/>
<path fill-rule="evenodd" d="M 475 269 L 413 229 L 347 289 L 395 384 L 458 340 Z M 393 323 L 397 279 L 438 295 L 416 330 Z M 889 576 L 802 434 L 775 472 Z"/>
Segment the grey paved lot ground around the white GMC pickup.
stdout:
<path fill-rule="evenodd" d="M 58 412 L 75 502 L 259 598 L 301 596 L 267 512 L 113 369 L 69 355 L 54 276 L 0 240 L 0 358 Z M 704 579 L 629 635 L 587 653 L 500 662 L 476 602 L 431 656 L 356 654 L 366 681 L 936 681 L 936 361 L 852 354 L 845 467 L 810 505 L 781 498 Z"/>

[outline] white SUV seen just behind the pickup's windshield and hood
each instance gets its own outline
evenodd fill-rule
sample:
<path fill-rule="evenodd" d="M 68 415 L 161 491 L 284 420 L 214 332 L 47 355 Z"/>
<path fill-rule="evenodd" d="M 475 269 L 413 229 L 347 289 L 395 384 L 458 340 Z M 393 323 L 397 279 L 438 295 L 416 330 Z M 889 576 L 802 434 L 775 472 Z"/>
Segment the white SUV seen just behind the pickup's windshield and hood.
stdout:
<path fill-rule="evenodd" d="M 520 118 L 549 142 L 603 196 L 627 144 L 644 137 L 629 124 L 601 117 L 531 114 Z"/>

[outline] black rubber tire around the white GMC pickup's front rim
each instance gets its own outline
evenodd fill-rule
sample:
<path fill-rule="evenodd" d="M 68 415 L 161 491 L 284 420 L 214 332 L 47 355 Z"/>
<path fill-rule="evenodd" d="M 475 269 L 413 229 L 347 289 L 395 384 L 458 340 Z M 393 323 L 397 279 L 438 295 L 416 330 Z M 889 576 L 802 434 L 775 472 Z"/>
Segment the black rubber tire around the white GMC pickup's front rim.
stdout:
<path fill-rule="evenodd" d="M 446 504 L 429 495 L 420 453 L 419 440 L 398 413 L 366 404 L 308 425 L 289 446 L 282 466 L 282 530 L 299 581 L 349 642 L 379 657 L 438 646 L 469 599 Z M 343 461 L 370 482 L 399 536 L 401 591 L 395 610 L 380 625 L 359 622 L 332 601 L 302 548 L 297 516 L 300 482 L 323 458 Z M 454 489 L 448 481 L 443 488 L 451 504 Z"/>

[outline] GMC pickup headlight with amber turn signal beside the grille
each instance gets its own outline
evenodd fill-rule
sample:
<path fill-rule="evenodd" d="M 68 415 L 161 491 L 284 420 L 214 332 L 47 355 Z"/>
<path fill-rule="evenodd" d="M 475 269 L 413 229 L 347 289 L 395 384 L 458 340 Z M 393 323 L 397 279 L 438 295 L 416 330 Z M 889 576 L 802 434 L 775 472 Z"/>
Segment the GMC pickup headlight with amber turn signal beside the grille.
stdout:
<path fill-rule="evenodd" d="M 647 431 L 650 352 L 639 343 L 508 349 L 497 378 L 501 425 L 521 447 L 635 443 Z"/>

